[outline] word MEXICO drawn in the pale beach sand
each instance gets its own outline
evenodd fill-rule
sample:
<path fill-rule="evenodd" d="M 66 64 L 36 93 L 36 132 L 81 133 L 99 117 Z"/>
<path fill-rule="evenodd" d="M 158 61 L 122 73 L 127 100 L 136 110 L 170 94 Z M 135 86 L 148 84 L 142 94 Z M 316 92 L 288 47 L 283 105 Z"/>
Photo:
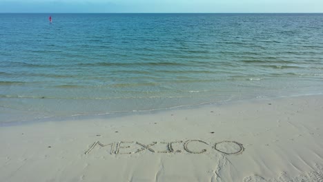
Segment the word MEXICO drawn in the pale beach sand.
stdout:
<path fill-rule="evenodd" d="M 94 148 L 108 148 L 110 154 L 136 154 L 149 151 L 153 153 L 182 153 L 186 151 L 190 154 L 203 154 L 208 150 L 220 152 L 222 154 L 241 154 L 244 151 L 242 143 L 237 141 L 221 141 L 217 143 L 207 143 L 202 140 L 170 141 L 142 143 L 138 141 L 118 141 L 108 144 L 95 141 L 85 152 L 89 154 Z"/>

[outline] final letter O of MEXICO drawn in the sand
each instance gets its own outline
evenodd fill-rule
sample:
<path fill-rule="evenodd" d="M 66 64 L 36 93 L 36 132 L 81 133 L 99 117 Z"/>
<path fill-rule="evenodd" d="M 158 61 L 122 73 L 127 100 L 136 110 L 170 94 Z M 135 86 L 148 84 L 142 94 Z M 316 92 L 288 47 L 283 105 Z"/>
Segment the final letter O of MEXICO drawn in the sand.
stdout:
<path fill-rule="evenodd" d="M 219 143 L 215 143 L 214 149 L 228 155 L 244 152 L 242 143 L 238 143 L 237 141 L 221 141 Z"/>

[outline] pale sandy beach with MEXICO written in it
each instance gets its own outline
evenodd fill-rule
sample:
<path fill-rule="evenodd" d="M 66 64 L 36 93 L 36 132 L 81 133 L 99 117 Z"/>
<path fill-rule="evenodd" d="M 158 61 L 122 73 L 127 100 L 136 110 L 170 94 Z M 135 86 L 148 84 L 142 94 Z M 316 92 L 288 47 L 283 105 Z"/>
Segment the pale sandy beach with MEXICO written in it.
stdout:
<path fill-rule="evenodd" d="M 323 181 L 323 96 L 0 128 L 0 181 Z"/>

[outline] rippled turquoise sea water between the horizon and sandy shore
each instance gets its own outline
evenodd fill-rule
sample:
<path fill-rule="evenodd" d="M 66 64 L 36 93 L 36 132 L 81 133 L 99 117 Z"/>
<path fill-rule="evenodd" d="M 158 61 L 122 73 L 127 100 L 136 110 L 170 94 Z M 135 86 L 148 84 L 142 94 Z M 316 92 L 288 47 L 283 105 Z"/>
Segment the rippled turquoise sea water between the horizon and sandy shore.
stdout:
<path fill-rule="evenodd" d="M 0 122 L 323 90 L 323 14 L 0 14 L 0 40 Z"/>

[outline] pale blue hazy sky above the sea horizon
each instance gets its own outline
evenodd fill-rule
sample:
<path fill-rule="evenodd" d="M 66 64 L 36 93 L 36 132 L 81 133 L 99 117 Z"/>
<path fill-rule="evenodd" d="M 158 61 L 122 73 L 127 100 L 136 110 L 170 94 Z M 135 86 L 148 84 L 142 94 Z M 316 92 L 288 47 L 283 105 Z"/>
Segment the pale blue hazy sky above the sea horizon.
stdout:
<path fill-rule="evenodd" d="M 0 0 L 0 12 L 323 12 L 323 0 Z"/>

